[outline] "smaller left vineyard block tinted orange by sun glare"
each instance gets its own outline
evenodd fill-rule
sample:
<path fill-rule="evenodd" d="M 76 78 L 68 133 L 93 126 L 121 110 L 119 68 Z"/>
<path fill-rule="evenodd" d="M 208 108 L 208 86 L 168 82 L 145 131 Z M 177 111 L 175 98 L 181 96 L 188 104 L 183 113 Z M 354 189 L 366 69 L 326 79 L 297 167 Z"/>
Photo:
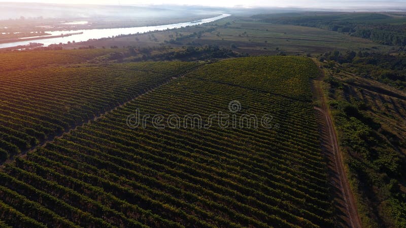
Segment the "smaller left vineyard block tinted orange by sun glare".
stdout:
<path fill-rule="evenodd" d="M 6 71 L 0 75 L 0 160 L 52 139 L 196 66 L 155 62 Z"/>

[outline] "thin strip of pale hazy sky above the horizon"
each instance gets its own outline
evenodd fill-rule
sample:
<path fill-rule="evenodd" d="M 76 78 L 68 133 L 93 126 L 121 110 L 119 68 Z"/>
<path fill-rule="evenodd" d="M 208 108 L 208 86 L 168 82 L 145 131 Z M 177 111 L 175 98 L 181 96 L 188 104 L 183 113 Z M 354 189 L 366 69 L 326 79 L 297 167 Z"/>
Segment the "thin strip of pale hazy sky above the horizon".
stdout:
<path fill-rule="evenodd" d="M 66 4 L 108 4 L 108 5 L 204 5 L 217 7 L 299 7 L 299 8 L 335 8 L 335 9 L 400 9 L 406 8 L 406 0 L 16 0 L 0 2 L 30 2 L 30 3 L 66 3 Z"/>

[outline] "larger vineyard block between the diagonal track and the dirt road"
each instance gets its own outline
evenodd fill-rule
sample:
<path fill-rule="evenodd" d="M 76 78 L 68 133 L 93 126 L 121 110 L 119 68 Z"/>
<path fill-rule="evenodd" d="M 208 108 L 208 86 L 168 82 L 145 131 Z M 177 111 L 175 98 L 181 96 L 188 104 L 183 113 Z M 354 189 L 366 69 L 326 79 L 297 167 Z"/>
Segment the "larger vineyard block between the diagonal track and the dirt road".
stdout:
<path fill-rule="evenodd" d="M 15 214 L 36 226 L 329 227 L 326 164 L 309 100 L 309 78 L 317 75 L 300 57 L 199 67 L 6 164 L 0 220 L 14 225 Z M 229 125 L 206 127 L 220 112 L 230 115 Z M 128 121 L 137 113 L 138 126 Z M 193 114 L 205 127 L 152 118 Z M 234 127 L 232 119 L 243 115 L 268 121 Z"/>

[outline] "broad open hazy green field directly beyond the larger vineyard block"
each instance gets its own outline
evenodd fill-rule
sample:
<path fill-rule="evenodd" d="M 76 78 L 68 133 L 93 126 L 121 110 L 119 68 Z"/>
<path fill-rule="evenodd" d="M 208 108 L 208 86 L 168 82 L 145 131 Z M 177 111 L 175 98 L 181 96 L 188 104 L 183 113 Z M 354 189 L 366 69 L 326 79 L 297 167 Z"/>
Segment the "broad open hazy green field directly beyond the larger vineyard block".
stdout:
<path fill-rule="evenodd" d="M 220 32 L 220 37 L 216 36 Z M 241 49 L 255 48 L 262 52 L 286 52 L 288 54 L 316 54 L 327 50 L 387 50 L 388 47 L 371 41 L 333 31 L 295 25 L 268 24 L 256 21 L 236 21 L 228 28 L 204 37 L 206 40 L 234 42 Z M 266 43 L 265 43 L 266 42 Z M 264 50 L 266 48 L 267 50 Z M 278 48 L 278 50 L 276 50 Z"/>

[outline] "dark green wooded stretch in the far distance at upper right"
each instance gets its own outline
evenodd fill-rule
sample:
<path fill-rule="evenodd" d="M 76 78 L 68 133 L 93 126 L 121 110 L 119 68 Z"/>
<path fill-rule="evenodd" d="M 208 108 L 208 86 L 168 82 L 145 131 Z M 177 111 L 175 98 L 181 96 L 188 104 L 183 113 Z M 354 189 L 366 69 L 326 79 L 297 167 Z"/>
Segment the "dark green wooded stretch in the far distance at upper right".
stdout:
<path fill-rule="evenodd" d="M 261 14 L 253 19 L 274 24 L 291 24 L 322 28 L 362 37 L 380 44 L 405 46 L 404 17 L 388 13 L 304 12 L 290 14 Z"/>

